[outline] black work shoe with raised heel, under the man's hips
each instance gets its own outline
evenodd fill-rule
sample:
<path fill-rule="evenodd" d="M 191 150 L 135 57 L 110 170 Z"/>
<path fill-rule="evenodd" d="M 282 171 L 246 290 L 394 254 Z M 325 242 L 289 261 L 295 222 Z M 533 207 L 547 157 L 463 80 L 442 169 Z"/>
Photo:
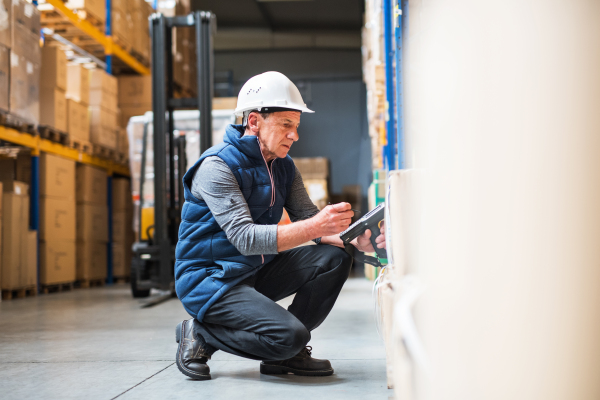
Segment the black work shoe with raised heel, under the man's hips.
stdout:
<path fill-rule="evenodd" d="M 204 339 L 194 334 L 193 318 L 177 325 L 175 340 L 179 343 L 175 359 L 181 373 L 192 379 L 210 379 L 210 368 L 206 362 L 211 354 L 203 348 Z"/>

